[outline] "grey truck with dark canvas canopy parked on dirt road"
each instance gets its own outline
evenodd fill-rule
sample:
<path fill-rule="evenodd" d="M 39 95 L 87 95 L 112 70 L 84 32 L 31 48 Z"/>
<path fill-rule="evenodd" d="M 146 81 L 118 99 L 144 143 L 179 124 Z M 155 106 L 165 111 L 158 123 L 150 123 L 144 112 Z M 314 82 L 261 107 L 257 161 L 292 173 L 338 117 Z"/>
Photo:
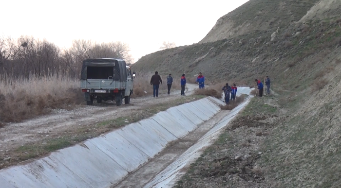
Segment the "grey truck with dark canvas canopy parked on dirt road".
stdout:
<path fill-rule="evenodd" d="M 102 101 L 115 101 L 117 106 L 129 104 L 133 94 L 133 72 L 122 59 L 96 58 L 83 61 L 80 88 L 87 105 Z"/>

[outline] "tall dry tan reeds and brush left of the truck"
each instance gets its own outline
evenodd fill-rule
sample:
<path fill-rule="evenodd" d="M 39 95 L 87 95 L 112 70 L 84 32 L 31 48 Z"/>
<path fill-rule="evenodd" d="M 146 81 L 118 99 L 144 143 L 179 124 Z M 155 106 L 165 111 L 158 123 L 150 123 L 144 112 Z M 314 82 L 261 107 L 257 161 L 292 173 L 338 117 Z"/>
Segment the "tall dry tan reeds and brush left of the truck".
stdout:
<path fill-rule="evenodd" d="M 71 109 L 83 102 L 79 81 L 69 75 L 42 78 L 0 78 L 0 120 L 18 122 L 47 114 L 51 109 Z"/>

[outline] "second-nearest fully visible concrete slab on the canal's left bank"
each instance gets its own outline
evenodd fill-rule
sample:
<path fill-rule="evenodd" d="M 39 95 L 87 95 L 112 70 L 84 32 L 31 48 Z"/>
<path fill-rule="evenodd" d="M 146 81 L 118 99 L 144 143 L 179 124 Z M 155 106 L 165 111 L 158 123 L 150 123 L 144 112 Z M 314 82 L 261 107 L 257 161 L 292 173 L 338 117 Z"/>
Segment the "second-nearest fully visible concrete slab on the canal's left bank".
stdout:
<path fill-rule="evenodd" d="M 117 132 L 91 139 L 89 142 L 129 172 L 134 171 L 150 159 L 147 154 Z"/>

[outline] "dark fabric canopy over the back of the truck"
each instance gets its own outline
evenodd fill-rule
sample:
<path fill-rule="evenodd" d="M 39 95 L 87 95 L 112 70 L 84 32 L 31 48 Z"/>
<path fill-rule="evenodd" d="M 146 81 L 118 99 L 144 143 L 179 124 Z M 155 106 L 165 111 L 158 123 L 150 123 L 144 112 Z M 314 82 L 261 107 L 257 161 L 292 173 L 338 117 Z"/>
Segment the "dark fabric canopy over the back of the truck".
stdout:
<path fill-rule="evenodd" d="M 86 59 L 83 61 L 80 80 L 108 79 L 109 76 L 114 77 L 115 81 L 127 81 L 126 62 L 114 58 Z"/>

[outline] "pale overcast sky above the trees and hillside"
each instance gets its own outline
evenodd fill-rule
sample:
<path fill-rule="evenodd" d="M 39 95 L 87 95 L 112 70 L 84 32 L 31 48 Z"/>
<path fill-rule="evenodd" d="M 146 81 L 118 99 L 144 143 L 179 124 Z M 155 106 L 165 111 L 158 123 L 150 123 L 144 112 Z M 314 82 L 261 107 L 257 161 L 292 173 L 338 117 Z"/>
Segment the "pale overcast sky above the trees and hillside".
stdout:
<path fill-rule="evenodd" d="M 216 21 L 248 0 L 3 0 L 0 34 L 46 38 L 61 48 L 74 39 L 128 43 L 135 61 L 199 42 Z"/>

